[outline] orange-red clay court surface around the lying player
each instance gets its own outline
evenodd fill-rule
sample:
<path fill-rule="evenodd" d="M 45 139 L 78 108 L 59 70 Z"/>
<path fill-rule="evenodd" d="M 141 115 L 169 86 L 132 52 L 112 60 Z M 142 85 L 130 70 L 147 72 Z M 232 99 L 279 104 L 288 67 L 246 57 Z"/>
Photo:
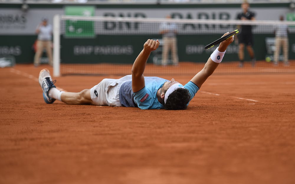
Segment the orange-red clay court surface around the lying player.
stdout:
<path fill-rule="evenodd" d="M 178 111 L 48 105 L 37 82 L 43 67 L 0 69 L 0 183 L 295 183 L 294 65 L 287 73 L 217 68 Z M 53 80 L 79 92 L 106 77 L 121 76 Z"/>

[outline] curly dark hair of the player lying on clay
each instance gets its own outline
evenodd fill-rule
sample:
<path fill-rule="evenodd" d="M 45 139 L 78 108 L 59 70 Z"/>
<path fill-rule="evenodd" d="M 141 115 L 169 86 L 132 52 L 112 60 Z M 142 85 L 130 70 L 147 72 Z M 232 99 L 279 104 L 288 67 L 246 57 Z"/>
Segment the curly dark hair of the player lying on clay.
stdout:
<path fill-rule="evenodd" d="M 167 98 L 164 107 L 166 110 L 184 110 L 191 99 L 188 89 L 178 88 Z"/>

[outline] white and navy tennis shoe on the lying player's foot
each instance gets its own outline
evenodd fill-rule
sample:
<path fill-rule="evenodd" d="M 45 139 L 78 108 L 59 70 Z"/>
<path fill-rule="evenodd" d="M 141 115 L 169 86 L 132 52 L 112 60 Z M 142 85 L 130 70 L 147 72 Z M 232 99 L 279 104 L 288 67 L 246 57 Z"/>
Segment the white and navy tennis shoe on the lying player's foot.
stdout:
<path fill-rule="evenodd" d="M 52 104 L 55 99 L 50 98 L 48 92 L 51 88 L 55 87 L 54 83 L 56 80 L 52 81 L 49 70 L 42 69 L 39 73 L 39 84 L 43 90 L 43 99 L 47 104 Z"/>

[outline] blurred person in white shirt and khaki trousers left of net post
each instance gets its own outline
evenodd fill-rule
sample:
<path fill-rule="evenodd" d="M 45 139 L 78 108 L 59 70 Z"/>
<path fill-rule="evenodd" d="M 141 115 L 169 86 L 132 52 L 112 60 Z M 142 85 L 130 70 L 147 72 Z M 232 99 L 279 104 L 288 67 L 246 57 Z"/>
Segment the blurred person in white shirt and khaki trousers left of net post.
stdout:
<path fill-rule="evenodd" d="M 49 59 L 49 64 L 52 66 L 52 26 L 48 24 L 48 19 L 43 17 L 42 22 L 37 26 L 36 33 L 37 38 L 37 49 L 34 57 L 35 67 L 40 64 L 40 57 L 43 53 L 43 49 L 46 49 L 47 57 Z"/>

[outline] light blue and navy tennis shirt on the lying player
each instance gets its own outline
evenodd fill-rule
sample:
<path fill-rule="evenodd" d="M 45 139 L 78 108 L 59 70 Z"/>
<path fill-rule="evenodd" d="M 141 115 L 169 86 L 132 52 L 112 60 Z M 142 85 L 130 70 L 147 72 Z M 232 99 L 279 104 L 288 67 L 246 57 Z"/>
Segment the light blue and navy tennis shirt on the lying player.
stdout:
<path fill-rule="evenodd" d="M 145 77 L 145 87 L 134 93 L 132 92 L 132 81 L 124 82 L 119 89 L 120 103 L 124 107 L 164 109 L 164 105 L 158 101 L 157 91 L 167 81 L 169 80 L 160 77 Z M 199 87 L 191 81 L 183 87 L 189 90 L 191 95 L 190 101 L 199 90 Z"/>

